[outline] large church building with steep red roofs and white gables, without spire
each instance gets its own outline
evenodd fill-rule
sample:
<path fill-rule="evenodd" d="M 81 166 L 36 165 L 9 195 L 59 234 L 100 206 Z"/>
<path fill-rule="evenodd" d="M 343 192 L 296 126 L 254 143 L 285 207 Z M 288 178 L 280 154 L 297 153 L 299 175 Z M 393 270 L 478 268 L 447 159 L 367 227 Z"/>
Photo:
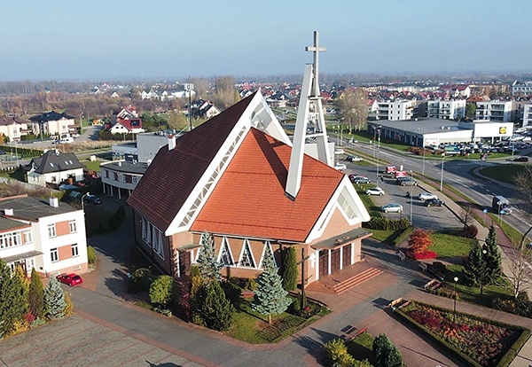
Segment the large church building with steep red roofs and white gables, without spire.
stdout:
<path fill-rule="evenodd" d="M 128 199 L 137 247 L 173 277 L 197 262 L 205 231 L 225 277 L 255 277 L 265 256 L 281 267 L 289 246 L 304 254 L 307 283 L 360 262 L 371 236 L 363 202 L 348 176 L 296 144 L 261 91 L 168 137 Z"/>

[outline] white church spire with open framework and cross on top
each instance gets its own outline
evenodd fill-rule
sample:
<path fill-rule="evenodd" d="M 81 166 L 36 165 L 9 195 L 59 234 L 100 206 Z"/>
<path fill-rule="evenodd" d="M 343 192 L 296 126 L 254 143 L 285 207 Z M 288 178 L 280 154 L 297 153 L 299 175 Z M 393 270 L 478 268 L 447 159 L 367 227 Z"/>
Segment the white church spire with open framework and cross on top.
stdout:
<path fill-rule="evenodd" d="M 329 166 L 333 165 L 332 154 L 328 148 L 324 109 L 318 82 L 319 52 L 324 52 L 326 49 L 319 46 L 317 31 L 314 31 L 314 45 L 305 47 L 305 51 L 314 53 L 314 62 L 305 66 L 300 103 L 293 132 L 293 147 L 285 189 L 286 194 L 293 199 L 295 199 L 301 188 L 303 155 L 307 138 L 312 138 L 316 141 L 317 159 Z"/>

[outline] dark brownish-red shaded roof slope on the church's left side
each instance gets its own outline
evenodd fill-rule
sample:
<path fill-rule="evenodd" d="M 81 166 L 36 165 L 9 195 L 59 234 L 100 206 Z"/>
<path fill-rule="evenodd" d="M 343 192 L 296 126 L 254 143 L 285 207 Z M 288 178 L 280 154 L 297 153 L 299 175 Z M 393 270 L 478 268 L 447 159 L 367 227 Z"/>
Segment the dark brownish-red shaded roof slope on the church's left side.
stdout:
<path fill-rule="evenodd" d="M 254 94 L 162 147 L 128 204 L 160 230 L 166 230 L 234 128 Z"/>

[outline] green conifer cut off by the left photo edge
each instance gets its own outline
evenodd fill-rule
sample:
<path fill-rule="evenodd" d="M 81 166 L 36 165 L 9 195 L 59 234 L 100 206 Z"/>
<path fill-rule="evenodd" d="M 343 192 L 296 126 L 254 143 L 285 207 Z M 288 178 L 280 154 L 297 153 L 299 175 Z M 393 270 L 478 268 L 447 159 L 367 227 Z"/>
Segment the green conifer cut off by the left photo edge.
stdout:
<path fill-rule="evenodd" d="M 26 311 L 26 299 L 19 277 L 12 277 L 12 270 L 0 259 L 0 336 L 11 332 L 15 322 Z"/>

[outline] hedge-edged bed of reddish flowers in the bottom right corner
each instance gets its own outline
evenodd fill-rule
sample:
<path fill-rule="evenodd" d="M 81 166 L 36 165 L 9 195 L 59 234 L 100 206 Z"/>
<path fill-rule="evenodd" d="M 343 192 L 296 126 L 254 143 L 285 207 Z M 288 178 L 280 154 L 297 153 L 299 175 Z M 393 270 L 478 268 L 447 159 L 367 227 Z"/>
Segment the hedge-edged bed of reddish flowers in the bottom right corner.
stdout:
<path fill-rule="evenodd" d="M 507 366 L 530 332 L 518 326 L 437 308 L 416 301 L 397 314 L 473 366 Z"/>

